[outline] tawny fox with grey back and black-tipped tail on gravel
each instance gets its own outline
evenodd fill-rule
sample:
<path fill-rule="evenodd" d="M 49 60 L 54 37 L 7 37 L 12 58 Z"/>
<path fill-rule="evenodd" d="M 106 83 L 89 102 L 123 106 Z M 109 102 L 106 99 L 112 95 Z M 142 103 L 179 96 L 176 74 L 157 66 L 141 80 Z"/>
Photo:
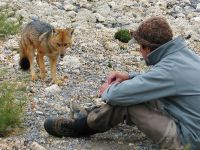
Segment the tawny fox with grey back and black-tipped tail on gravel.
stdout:
<path fill-rule="evenodd" d="M 44 80 L 46 76 L 44 56 L 49 58 L 52 82 L 61 84 L 62 81 L 56 76 L 57 59 L 64 57 L 66 49 L 72 46 L 72 28 L 54 28 L 49 23 L 32 20 L 21 32 L 19 41 L 19 65 L 21 69 L 30 70 L 31 79 L 35 81 L 37 76 L 34 70 L 34 57 L 39 66 L 39 77 Z"/>

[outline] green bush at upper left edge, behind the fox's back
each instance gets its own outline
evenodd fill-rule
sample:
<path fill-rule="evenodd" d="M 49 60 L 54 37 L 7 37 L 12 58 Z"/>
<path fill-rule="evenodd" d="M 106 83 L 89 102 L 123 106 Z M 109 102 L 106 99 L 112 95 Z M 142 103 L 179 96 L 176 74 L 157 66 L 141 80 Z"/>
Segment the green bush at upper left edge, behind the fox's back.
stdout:
<path fill-rule="evenodd" d="M 21 26 L 21 19 L 17 22 L 9 20 L 9 15 L 6 12 L 0 12 L 0 39 L 5 39 L 9 35 L 18 33 Z"/>

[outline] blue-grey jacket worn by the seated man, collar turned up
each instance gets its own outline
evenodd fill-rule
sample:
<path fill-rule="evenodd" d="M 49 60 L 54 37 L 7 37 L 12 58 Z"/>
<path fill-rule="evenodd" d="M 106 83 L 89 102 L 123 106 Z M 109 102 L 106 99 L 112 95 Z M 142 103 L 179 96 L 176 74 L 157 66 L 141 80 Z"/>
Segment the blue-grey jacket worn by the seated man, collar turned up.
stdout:
<path fill-rule="evenodd" d="M 130 106 L 159 99 L 177 121 L 182 143 L 200 149 L 200 57 L 178 37 L 151 52 L 147 63 L 149 71 L 112 84 L 102 100 Z"/>

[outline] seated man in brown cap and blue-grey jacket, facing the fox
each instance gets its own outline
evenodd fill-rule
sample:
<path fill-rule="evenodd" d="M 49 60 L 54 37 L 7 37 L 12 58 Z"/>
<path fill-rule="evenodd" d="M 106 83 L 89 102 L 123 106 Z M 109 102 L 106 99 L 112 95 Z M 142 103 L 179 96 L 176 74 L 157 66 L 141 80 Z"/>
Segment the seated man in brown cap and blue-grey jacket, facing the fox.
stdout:
<path fill-rule="evenodd" d="M 173 39 L 162 17 L 142 22 L 132 36 L 151 69 L 142 74 L 112 72 L 100 88 L 105 105 L 76 119 L 49 118 L 45 130 L 58 137 L 87 136 L 126 120 L 160 148 L 183 149 L 190 144 L 192 150 L 199 149 L 200 57 L 181 37 Z"/>

